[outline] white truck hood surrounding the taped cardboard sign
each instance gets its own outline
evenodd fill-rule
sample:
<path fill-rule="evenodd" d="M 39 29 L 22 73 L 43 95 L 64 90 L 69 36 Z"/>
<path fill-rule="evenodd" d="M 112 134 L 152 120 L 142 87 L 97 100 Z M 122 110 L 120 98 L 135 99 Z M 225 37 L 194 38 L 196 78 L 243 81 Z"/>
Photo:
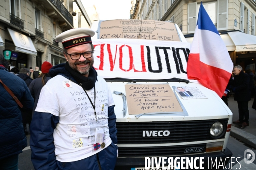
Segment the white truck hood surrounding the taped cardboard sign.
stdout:
<path fill-rule="evenodd" d="M 163 84 L 166 82 L 138 82 L 136 84 Z M 124 104 L 122 95 L 112 94 L 115 102 L 115 115 L 117 117 L 117 122 L 144 122 L 144 121 L 189 121 L 189 120 L 209 120 L 218 118 L 229 118 L 232 117 L 232 112 L 227 107 L 227 105 L 221 100 L 221 98 L 212 90 L 204 87 L 201 84 L 185 82 L 167 82 L 169 86 L 196 86 L 203 92 L 207 98 L 204 99 L 187 99 L 184 100 L 177 92 L 171 88 L 174 93 L 176 93 L 179 102 L 185 108 L 187 115 L 175 115 L 166 114 L 163 115 L 161 112 L 159 114 L 149 115 L 143 114 L 136 118 L 136 115 L 129 114 L 129 109 L 127 107 L 126 115 L 124 116 Z M 125 84 L 127 82 L 108 82 L 111 92 L 117 91 L 126 95 Z M 125 102 L 127 104 L 127 102 Z M 184 111 L 184 110 L 183 110 Z"/>

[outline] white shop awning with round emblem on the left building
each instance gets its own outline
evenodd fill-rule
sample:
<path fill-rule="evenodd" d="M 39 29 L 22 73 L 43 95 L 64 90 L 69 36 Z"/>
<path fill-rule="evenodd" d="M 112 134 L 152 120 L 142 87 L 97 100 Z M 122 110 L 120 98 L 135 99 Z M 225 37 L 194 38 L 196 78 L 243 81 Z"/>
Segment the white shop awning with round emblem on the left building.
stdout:
<path fill-rule="evenodd" d="M 15 51 L 37 55 L 37 51 L 35 50 L 35 46 L 30 37 L 13 31 L 12 29 L 8 29 L 8 32 L 11 35 L 12 41 L 15 45 Z"/>

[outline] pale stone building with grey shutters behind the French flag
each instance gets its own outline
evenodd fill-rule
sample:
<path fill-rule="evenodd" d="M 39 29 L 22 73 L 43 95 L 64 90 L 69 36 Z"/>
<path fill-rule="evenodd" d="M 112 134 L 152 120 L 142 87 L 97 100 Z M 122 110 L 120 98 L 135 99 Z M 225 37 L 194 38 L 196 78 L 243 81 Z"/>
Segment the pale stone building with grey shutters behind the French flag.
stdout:
<path fill-rule="evenodd" d="M 131 19 L 177 23 L 183 35 L 191 43 L 200 3 L 201 0 L 137 0 L 131 12 Z M 255 71 L 256 1 L 202 0 L 202 3 L 224 40 L 233 63 L 240 64 L 244 69 L 250 68 Z M 238 36 L 241 37 L 240 42 L 239 39 L 237 40 Z M 241 42 L 245 41 L 244 37 L 247 37 L 247 42 L 242 44 Z M 246 46 L 248 43 L 250 47 Z M 245 50 L 239 49 L 238 46 Z"/>

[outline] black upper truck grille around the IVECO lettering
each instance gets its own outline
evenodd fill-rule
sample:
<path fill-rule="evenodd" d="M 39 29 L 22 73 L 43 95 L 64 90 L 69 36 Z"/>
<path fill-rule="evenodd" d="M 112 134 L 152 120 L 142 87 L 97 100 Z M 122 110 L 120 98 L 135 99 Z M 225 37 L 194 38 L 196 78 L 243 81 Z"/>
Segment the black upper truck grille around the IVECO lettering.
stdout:
<path fill-rule="evenodd" d="M 157 121 L 157 122 L 116 122 L 118 129 L 118 144 L 165 144 L 191 141 L 206 141 L 213 138 L 209 134 L 210 127 L 215 121 L 224 123 L 228 119 L 199 120 L 199 121 Z M 143 131 L 168 130 L 170 135 L 142 137 Z M 226 131 L 226 130 L 225 130 Z M 225 137 L 225 133 L 221 138 Z"/>

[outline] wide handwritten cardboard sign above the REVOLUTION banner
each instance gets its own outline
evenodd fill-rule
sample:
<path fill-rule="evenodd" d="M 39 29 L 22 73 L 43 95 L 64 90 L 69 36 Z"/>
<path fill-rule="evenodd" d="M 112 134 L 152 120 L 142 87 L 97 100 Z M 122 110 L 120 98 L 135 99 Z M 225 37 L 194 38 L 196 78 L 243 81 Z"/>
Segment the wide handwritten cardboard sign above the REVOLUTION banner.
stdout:
<path fill-rule="evenodd" d="M 99 38 L 180 41 L 174 23 L 156 20 L 103 21 L 100 23 Z"/>

